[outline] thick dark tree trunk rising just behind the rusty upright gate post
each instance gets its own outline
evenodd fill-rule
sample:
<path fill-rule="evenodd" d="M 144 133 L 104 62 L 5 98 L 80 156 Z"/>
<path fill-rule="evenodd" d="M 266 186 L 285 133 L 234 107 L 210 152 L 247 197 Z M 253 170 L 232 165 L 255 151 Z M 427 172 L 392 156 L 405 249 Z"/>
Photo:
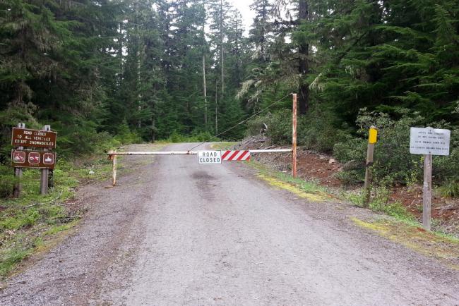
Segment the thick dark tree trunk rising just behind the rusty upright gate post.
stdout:
<path fill-rule="evenodd" d="M 298 19 L 299 23 L 304 22 L 309 17 L 307 0 L 299 0 Z M 298 70 L 301 75 L 299 80 L 299 114 L 306 114 L 309 109 L 309 84 L 304 80 L 309 73 L 309 44 L 302 43 L 298 50 L 299 65 Z"/>

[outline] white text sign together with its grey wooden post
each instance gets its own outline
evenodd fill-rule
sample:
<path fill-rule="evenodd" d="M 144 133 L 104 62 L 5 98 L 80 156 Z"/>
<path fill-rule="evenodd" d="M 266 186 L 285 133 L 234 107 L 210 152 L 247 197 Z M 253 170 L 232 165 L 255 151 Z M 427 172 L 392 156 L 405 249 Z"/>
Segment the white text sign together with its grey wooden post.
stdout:
<path fill-rule="evenodd" d="M 424 184 L 422 188 L 422 226 L 430 231 L 432 200 L 432 155 L 449 155 L 451 130 L 411 128 L 410 153 L 424 155 Z"/>

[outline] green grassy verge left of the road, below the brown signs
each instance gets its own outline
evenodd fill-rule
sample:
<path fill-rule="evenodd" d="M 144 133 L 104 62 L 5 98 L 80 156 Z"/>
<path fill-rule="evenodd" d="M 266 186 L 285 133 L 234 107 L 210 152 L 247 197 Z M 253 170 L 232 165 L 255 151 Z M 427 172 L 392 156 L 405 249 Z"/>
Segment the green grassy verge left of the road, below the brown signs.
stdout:
<path fill-rule="evenodd" d="M 11 175 L 8 173 L 13 170 L 6 170 L 4 176 Z M 75 226 L 81 212 L 62 204 L 73 199 L 78 185 L 106 180 L 111 171 L 111 161 L 105 155 L 89 157 L 80 164 L 60 159 L 53 171 L 54 187 L 40 195 L 40 171 L 25 169 L 20 197 L 0 200 L 0 280 L 11 275 L 23 259 L 46 248 L 57 233 Z"/>

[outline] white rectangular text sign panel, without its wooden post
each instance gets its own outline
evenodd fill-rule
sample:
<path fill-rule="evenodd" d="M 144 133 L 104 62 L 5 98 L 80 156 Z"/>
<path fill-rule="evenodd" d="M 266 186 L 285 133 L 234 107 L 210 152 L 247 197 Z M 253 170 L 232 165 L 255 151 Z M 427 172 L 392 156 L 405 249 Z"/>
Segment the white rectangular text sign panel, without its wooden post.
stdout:
<path fill-rule="evenodd" d="M 439 128 L 411 128 L 410 153 L 424 155 L 449 155 L 451 130 Z"/>

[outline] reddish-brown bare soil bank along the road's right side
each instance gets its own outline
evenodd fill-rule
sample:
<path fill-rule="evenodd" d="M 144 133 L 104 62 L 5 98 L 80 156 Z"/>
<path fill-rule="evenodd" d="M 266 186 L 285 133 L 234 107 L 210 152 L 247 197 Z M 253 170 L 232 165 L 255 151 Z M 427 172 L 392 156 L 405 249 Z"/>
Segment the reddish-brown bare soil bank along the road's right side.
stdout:
<path fill-rule="evenodd" d="M 271 145 L 266 137 L 251 137 L 237 145 L 236 149 L 280 149 L 281 147 Z M 287 147 L 282 147 L 287 148 Z M 298 147 L 297 169 L 299 178 L 314 180 L 318 184 L 328 188 L 357 189 L 362 185 L 345 185 L 336 177 L 342 170 L 342 164 L 335 161 L 327 154 L 310 151 L 304 147 Z M 251 159 L 266 164 L 270 168 L 282 172 L 291 171 L 291 154 L 254 154 Z M 394 186 L 389 196 L 389 203 L 400 202 L 407 211 L 413 214 L 419 221 L 422 219 L 422 185 L 415 186 Z M 431 216 L 434 223 L 442 231 L 459 234 L 459 200 L 447 199 L 434 195 L 432 197 Z"/>

